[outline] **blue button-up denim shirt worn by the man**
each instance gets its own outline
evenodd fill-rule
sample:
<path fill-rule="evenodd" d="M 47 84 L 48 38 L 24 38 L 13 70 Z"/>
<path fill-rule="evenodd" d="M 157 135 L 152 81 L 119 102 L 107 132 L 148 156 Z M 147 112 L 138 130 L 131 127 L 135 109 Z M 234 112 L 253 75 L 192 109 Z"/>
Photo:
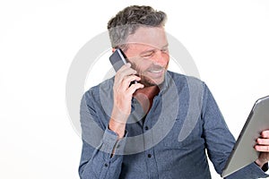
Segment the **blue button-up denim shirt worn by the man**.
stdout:
<path fill-rule="evenodd" d="M 103 81 L 82 97 L 82 179 L 209 179 L 208 158 L 221 174 L 235 139 L 203 81 L 166 72 L 147 115 L 132 99 L 126 135 L 120 141 L 108 129 L 113 82 Z M 266 176 L 251 163 L 227 178 Z"/>

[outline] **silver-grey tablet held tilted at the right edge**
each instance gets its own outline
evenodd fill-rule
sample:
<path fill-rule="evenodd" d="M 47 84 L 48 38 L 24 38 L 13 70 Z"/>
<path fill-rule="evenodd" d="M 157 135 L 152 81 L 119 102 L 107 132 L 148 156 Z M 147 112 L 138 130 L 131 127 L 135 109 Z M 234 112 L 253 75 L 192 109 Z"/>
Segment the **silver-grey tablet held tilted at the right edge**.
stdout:
<path fill-rule="evenodd" d="M 260 133 L 269 129 L 269 96 L 256 100 L 239 138 L 230 153 L 221 177 L 230 175 L 256 161 L 259 152 L 254 149 Z"/>

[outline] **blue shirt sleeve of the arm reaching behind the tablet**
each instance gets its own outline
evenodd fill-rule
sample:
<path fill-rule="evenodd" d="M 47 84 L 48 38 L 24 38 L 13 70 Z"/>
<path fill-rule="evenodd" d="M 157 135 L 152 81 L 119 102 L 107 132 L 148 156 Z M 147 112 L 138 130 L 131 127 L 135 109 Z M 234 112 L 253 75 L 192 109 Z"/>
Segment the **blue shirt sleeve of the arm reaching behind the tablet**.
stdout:
<path fill-rule="evenodd" d="M 235 144 L 235 139 L 230 133 L 211 91 L 205 84 L 202 118 L 204 120 L 204 139 L 208 157 L 213 162 L 216 172 L 221 175 L 226 161 L 230 156 L 230 151 Z M 267 176 L 259 166 L 252 163 L 243 167 L 238 172 L 227 176 L 227 179 L 253 179 Z"/>

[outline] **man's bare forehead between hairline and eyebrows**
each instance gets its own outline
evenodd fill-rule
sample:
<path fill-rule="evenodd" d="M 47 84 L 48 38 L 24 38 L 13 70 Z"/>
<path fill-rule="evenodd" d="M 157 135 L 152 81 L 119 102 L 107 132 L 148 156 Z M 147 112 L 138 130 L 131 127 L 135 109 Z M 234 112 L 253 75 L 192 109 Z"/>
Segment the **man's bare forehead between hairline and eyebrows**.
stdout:
<path fill-rule="evenodd" d="M 168 41 L 163 27 L 140 27 L 128 36 L 126 43 L 129 46 L 161 48 L 166 46 Z"/>

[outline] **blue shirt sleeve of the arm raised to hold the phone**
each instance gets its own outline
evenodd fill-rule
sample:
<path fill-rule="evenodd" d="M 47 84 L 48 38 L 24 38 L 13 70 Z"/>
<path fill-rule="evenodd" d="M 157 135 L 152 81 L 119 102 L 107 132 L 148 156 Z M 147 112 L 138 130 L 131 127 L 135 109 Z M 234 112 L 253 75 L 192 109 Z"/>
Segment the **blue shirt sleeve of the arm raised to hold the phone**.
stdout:
<path fill-rule="evenodd" d="M 117 140 L 116 132 L 102 124 L 89 93 L 81 102 L 82 156 L 79 166 L 81 179 L 116 179 L 121 172 L 126 136 Z M 106 126 L 106 127 L 102 127 Z M 112 155 L 113 154 L 113 155 Z"/>

